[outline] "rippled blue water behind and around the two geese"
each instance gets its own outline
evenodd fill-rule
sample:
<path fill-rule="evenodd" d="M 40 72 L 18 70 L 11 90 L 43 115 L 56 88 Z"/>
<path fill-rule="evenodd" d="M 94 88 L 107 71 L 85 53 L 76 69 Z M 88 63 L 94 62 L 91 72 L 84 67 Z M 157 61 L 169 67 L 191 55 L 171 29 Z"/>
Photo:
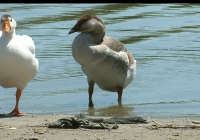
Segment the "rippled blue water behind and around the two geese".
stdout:
<path fill-rule="evenodd" d="M 101 116 L 200 115 L 200 4 L 0 4 L 17 21 L 17 34 L 31 36 L 40 67 L 20 100 L 26 114 Z M 95 86 L 88 108 L 87 80 L 71 55 L 83 14 L 95 14 L 106 35 L 123 42 L 137 60 L 134 81 L 117 94 Z M 0 113 L 15 105 L 15 88 L 0 87 Z"/>

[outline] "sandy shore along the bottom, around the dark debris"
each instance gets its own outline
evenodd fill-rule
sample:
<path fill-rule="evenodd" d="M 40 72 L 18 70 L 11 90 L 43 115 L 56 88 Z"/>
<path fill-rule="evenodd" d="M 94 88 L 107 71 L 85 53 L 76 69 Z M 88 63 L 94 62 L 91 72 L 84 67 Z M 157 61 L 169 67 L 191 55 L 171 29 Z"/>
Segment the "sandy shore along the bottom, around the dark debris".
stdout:
<path fill-rule="evenodd" d="M 118 124 L 117 129 L 48 128 L 73 115 L 0 117 L 0 140 L 198 140 L 198 118 L 144 118 L 147 123 Z M 106 118 L 106 117 L 103 117 Z"/>

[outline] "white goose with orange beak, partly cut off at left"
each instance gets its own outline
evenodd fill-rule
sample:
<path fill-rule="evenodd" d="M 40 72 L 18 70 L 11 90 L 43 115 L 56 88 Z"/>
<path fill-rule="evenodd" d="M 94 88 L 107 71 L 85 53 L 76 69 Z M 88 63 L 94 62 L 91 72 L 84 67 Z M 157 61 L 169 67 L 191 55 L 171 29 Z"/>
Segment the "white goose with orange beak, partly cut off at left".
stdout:
<path fill-rule="evenodd" d="M 35 45 L 31 37 L 16 35 L 16 21 L 9 14 L 1 17 L 0 33 L 0 85 L 16 87 L 16 105 L 9 115 L 26 115 L 18 109 L 23 89 L 38 72 Z"/>

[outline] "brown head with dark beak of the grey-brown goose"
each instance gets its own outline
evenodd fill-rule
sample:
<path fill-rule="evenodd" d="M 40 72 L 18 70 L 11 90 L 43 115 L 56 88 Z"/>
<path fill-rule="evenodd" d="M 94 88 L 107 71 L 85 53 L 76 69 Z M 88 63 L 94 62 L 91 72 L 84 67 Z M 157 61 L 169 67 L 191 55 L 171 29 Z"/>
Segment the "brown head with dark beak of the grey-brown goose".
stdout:
<path fill-rule="evenodd" d="M 74 32 L 90 34 L 91 38 L 93 38 L 95 42 L 99 42 L 103 41 L 106 27 L 103 21 L 98 17 L 94 15 L 83 15 L 78 19 L 68 34 L 72 34 Z"/>

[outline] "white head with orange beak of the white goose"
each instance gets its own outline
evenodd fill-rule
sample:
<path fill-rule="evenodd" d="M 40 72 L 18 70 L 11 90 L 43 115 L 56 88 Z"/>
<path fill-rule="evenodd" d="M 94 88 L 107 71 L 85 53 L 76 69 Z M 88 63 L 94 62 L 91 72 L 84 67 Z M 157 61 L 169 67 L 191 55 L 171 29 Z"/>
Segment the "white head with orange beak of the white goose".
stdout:
<path fill-rule="evenodd" d="M 13 33 L 14 29 L 17 27 L 16 21 L 9 14 L 4 14 L 1 16 L 1 29 L 3 33 Z"/>

